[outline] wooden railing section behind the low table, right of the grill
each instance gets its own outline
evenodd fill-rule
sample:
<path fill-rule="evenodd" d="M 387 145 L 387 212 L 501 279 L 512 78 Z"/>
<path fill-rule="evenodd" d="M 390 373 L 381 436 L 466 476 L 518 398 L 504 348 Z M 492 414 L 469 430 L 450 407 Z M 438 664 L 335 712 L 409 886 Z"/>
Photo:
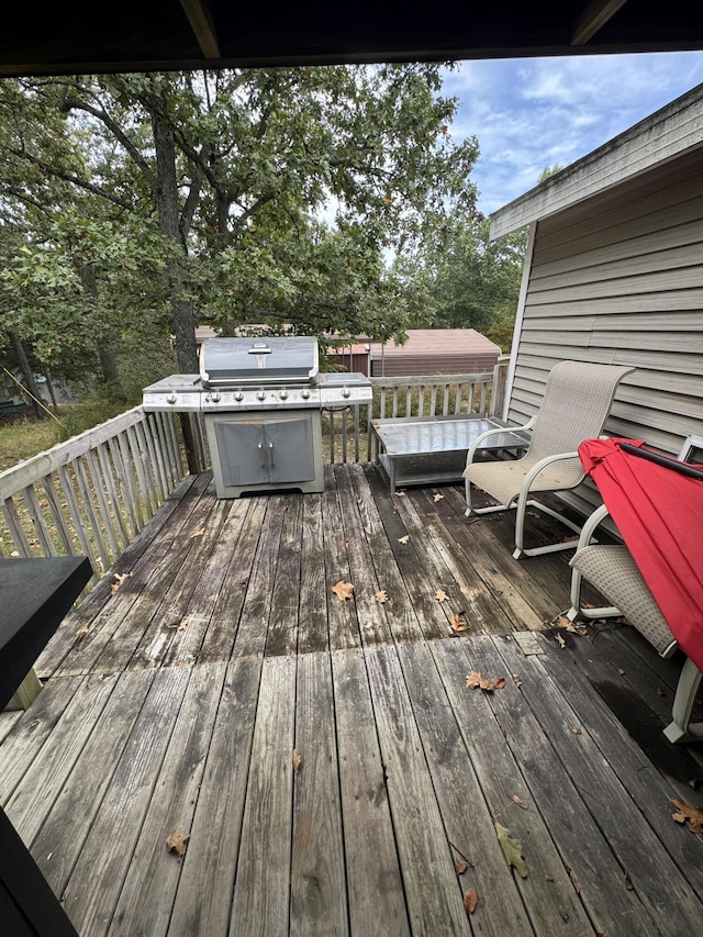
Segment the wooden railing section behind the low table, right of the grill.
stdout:
<path fill-rule="evenodd" d="M 371 420 L 403 416 L 472 414 L 500 416 L 506 386 L 509 357 L 493 369 L 476 375 L 425 375 L 371 378 L 372 404 L 325 411 L 323 432 L 331 462 L 371 461 Z"/>

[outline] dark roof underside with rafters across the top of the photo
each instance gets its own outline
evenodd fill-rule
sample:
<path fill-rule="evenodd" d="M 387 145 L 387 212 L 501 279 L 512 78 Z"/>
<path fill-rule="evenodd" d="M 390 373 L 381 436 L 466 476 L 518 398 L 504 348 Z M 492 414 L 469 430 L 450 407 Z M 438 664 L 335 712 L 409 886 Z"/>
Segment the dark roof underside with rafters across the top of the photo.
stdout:
<path fill-rule="evenodd" d="M 2 14 L 0 75 L 703 48 L 690 0 L 72 0 Z"/>

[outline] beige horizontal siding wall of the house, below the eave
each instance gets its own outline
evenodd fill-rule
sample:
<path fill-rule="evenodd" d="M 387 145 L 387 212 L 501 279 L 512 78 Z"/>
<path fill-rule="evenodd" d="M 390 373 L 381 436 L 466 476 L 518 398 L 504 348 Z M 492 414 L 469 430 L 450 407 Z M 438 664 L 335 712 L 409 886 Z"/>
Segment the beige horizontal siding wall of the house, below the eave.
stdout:
<path fill-rule="evenodd" d="M 536 411 L 550 368 L 572 358 L 637 368 L 609 434 L 671 454 L 701 435 L 703 150 L 537 221 L 521 314 L 511 422 Z"/>

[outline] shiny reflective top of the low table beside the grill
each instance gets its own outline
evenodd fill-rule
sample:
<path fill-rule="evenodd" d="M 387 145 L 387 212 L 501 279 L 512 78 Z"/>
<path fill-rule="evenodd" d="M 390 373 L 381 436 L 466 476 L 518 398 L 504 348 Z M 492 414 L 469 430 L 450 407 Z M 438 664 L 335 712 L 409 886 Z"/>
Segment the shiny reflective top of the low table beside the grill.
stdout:
<path fill-rule="evenodd" d="M 461 416 L 409 417 L 375 420 L 373 431 L 388 456 L 425 455 L 432 453 L 466 451 L 487 430 L 500 427 L 493 420 Z M 510 449 L 527 446 L 525 436 L 496 433 L 486 439 L 481 449 Z"/>

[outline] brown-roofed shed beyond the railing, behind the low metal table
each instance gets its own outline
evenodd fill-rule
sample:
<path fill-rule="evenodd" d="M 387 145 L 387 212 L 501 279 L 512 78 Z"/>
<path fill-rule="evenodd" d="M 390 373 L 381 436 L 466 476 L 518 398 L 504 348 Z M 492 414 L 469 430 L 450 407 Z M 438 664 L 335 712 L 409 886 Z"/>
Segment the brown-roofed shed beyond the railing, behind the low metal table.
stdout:
<path fill-rule="evenodd" d="M 500 354 L 475 328 L 411 328 L 404 345 L 371 343 L 371 377 L 482 373 Z"/>

